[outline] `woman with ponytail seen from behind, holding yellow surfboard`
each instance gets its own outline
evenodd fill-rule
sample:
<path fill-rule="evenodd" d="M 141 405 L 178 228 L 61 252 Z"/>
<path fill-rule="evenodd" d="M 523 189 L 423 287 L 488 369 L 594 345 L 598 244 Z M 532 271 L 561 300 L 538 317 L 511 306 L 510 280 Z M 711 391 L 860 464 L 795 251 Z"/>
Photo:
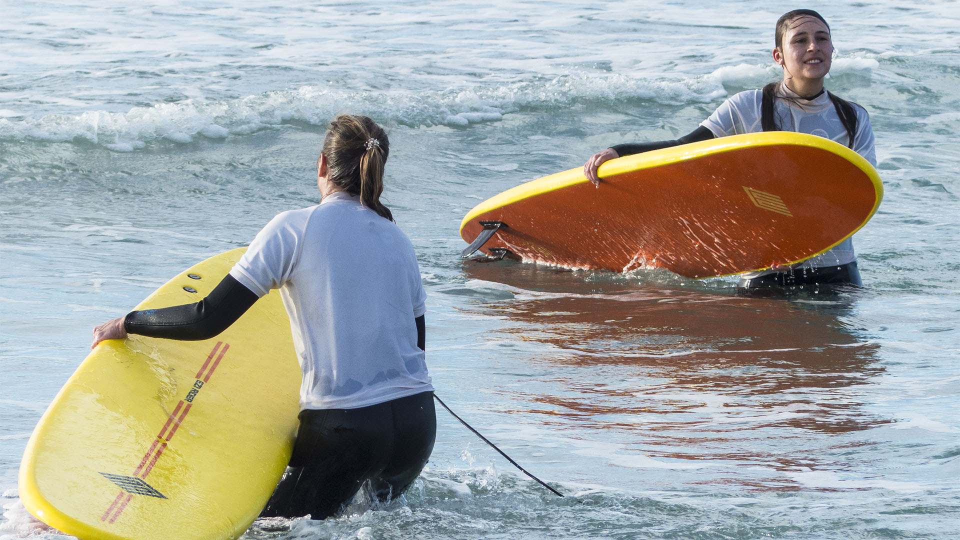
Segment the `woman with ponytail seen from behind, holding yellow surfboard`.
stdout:
<path fill-rule="evenodd" d="M 280 289 L 303 372 L 300 430 L 264 516 L 325 519 L 361 487 L 396 498 L 433 450 L 426 294 L 413 245 L 380 202 L 389 153 L 370 118 L 338 116 L 317 160 L 319 205 L 278 214 L 203 301 L 93 331 L 94 345 L 128 332 L 208 339 Z"/>

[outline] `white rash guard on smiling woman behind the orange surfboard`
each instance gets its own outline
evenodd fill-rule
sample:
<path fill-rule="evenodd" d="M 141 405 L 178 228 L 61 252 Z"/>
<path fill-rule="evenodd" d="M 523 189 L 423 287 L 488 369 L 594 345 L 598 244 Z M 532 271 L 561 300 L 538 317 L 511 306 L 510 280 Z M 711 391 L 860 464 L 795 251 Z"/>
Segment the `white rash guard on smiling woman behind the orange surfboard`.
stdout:
<path fill-rule="evenodd" d="M 819 135 L 850 146 L 850 136 L 847 129 L 837 115 L 836 108 L 827 92 L 811 99 L 804 100 L 789 88 L 779 86 L 778 97 L 774 102 L 774 114 L 780 130 Z M 762 132 L 760 108 L 763 101 L 762 90 L 747 90 L 733 95 L 709 118 L 701 123 L 715 136 L 751 134 Z M 859 105 L 852 104 L 856 110 L 856 134 L 853 136 L 853 151 L 876 166 L 874 151 L 874 131 L 870 127 L 870 116 L 867 110 Z M 801 264 L 802 268 L 822 268 L 839 266 L 856 260 L 853 252 L 852 238 L 841 242 L 827 253 L 808 258 Z M 776 262 L 776 261 L 772 261 Z M 773 273 L 773 270 L 751 272 L 744 274 L 744 279 L 752 279 L 764 274 Z"/>

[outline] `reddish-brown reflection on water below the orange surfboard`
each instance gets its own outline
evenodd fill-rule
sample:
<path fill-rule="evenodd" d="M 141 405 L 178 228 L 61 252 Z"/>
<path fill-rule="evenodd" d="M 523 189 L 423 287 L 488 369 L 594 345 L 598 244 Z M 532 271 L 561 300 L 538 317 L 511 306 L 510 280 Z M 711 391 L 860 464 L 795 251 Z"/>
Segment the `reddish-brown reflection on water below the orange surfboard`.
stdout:
<path fill-rule="evenodd" d="M 840 467 L 828 454 L 871 443 L 831 437 L 887 422 L 858 398 L 883 369 L 876 343 L 845 323 L 855 296 L 743 298 L 729 284 L 531 264 L 465 271 L 513 293 L 473 307 L 501 319 L 492 338 L 542 345 L 517 361 L 551 376 L 503 392 L 544 424 L 647 458 L 786 472 Z"/>

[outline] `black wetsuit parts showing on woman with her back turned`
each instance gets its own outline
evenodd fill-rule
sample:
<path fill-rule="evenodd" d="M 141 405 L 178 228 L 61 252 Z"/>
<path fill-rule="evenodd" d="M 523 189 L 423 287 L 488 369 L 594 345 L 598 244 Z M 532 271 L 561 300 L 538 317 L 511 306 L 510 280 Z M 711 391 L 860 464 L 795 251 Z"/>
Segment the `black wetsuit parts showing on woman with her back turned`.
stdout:
<path fill-rule="evenodd" d="M 256 300 L 256 294 L 227 275 L 204 300 L 132 311 L 124 327 L 153 337 L 209 339 Z M 417 345 L 425 350 L 423 315 L 416 323 Z M 373 497 L 395 498 L 420 475 L 436 434 L 433 392 L 360 408 L 301 410 L 290 465 L 263 516 L 325 519 L 349 503 L 367 481 Z"/>

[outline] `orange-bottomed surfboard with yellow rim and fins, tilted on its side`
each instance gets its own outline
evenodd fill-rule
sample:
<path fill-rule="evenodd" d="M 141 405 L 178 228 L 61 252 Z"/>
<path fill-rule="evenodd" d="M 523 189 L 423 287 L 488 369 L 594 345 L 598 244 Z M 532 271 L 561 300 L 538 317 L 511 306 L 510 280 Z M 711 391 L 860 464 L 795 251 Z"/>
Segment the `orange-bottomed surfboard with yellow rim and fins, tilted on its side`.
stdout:
<path fill-rule="evenodd" d="M 869 161 L 815 135 L 732 135 L 610 160 L 508 189 L 470 210 L 460 235 L 504 254 L 572 268 L 740 274 L 828 251 L 874 215 Z"/>

